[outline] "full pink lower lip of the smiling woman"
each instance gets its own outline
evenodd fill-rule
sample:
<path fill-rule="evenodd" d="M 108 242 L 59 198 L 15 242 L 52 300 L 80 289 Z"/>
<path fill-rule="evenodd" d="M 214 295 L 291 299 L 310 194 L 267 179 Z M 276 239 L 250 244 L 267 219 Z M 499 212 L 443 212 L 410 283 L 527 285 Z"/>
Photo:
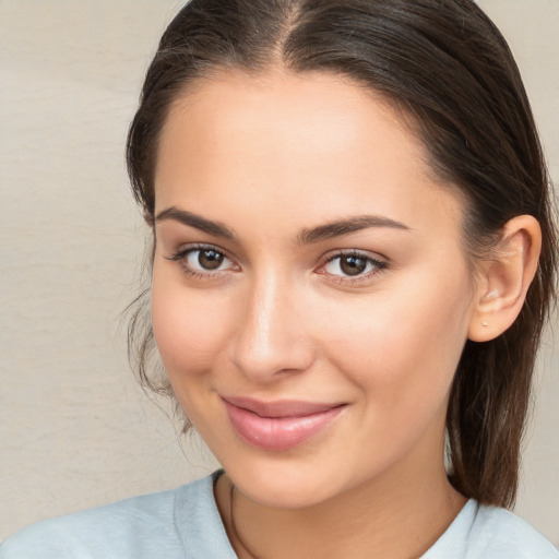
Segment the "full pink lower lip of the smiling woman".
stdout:
<path fill-rule="evenodd" d="M 289 417 L 261 417 L 224 401 L 229 421 L 249 444 L 265 450 L 297 447 L 325 429 L 345 406 L 316 414 Z"/>

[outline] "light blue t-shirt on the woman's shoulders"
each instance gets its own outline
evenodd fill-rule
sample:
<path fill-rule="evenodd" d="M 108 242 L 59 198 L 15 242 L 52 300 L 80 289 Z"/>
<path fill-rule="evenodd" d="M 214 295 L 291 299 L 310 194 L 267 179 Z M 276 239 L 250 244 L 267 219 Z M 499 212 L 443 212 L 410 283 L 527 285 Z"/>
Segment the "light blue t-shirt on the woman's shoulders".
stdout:
<path fill-rule="evenodd" d="M 8 538 L 0 559 L 236 559 L 213 496 L 218 475 L 40 522 Z M 469 500 L 420 559 L 559 559 L 559 551 L 511 512 Z"/>

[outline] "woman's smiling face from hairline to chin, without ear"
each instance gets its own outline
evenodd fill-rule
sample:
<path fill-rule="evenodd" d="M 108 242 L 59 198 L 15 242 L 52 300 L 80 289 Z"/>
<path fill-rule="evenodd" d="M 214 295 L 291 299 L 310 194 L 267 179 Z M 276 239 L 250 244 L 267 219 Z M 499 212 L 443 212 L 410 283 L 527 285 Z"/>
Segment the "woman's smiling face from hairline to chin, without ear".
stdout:
<path fill-rule="evenodd" d="M 305 507 L 443 475 L 463 207 L 396 114 L 328 74 L 223 74 L 173 107 L 155 183 L 155 338 L 234 483 Z"/>

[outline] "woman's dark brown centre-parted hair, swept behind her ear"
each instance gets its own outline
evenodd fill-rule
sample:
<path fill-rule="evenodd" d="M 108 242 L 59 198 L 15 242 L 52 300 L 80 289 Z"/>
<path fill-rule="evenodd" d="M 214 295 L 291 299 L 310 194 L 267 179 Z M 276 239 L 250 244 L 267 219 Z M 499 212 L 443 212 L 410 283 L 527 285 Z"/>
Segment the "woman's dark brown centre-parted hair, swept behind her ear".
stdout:
<path fill-rule="evenodd" d="M 392 103 L 413 126 L 440 181 L 466 201 L 466 252 L 490 258 L 503 225 L 534 216 L 543 249 L 514 324 L 467 341 L 447 415 L 449 479 L 481 503 L 514 503 L 520 445 L 543 326 L 556 294 L 550 185 L 522 80 L 507 41 L 472 0 L 192 0 L 165 31 L 131 123 L 132 191 L 153 226 L 158 138 L 189 84 L 223 70 L 330 72 Z M 153 261 L 153 252 L 152 252 Z M 150 365 L 148 290 L 133 304 L 131 362 Z"/>

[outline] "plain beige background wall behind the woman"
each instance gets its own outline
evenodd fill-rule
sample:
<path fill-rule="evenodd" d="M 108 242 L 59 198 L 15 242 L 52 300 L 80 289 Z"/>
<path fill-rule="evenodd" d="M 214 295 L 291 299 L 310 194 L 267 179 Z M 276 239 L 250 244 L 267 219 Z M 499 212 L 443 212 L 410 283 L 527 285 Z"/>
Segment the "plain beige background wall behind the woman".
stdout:
<path fill-rule="evenodd" d="M 180 2 L 0 0 L 0 539 L 45 516 L 211 471 L 138 389 L 119 312 L 143 226 L 122 146 L 143 72 Z M 559 180 L 559 0 L 480 1 L 523 70 Z M 518 512 L 559 544 L 559 344 Z"/>

